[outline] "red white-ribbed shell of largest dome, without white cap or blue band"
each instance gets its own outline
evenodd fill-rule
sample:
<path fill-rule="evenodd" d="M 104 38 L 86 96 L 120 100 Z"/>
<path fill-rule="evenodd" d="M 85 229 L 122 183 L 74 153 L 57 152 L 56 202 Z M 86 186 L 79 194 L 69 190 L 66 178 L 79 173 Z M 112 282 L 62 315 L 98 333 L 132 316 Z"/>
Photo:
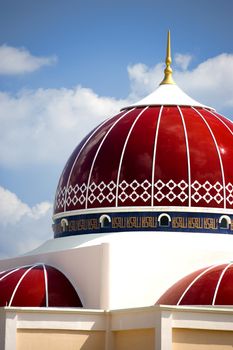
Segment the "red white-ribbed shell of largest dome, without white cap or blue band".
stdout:
<path fill-rule="evenodd" d="M 74 150 L 57 187 L 54 217 L 129 207 L 232 210 L 232 160 L 233 124 L 213 110 L 128 108 Z"/>

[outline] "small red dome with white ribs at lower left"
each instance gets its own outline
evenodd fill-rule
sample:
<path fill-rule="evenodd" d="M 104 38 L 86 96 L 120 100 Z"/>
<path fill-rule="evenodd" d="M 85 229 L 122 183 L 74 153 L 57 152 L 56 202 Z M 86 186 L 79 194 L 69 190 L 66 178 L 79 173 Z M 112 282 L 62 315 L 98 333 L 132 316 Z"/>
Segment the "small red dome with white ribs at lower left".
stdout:
<path fill-rule="evenodd" d="M 82 307 L 82 303 L 62 272 L 35 264 L 0 272 L 0 306 Z"/>

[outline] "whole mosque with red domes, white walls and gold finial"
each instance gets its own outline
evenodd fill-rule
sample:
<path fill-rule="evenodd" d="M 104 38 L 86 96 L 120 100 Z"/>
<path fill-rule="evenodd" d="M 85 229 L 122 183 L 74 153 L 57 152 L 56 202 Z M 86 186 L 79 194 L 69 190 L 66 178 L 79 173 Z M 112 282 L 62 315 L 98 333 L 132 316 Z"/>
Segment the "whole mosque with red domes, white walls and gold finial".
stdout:
<path fill-rule="evenodd" d="M 175 84 L 168 33 L 159 87 L 68 159 L 54 238 L 0 261 L 0 349 L 232 349 L 232 163 L 233 124 Z"/>

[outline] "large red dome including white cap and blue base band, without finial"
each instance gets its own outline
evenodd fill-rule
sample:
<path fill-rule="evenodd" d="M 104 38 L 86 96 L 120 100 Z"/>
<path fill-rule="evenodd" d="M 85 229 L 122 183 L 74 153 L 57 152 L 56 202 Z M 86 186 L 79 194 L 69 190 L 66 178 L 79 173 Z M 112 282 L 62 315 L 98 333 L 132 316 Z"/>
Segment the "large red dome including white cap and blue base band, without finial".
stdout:
<path fill-rule="evenodd" d="M 74 150 L 57 187 L 55 237 L 107 227 L 227 233 L 232 161 L 232 122 L 163 82 Z"/>

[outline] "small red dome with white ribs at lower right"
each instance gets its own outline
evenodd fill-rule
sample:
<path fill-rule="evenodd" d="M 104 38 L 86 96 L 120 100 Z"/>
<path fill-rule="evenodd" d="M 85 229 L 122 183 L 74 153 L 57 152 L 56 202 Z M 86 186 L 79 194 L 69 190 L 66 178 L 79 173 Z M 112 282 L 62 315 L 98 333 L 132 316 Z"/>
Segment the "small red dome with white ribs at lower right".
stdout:
<path fill-rule="evenodd" d="M 233 263 L 198 270 L 169 288 L 163 305 L 233 305 Z"/>

